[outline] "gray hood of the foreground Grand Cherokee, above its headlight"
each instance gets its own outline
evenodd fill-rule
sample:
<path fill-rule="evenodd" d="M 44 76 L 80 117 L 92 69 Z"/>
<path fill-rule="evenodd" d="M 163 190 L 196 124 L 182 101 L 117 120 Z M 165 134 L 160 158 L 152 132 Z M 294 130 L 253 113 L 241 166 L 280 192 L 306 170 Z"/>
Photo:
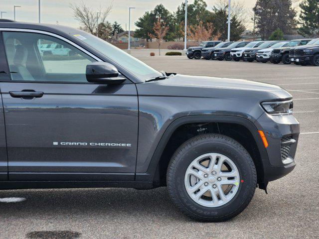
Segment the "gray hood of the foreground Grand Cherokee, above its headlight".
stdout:
<path fill-rule="evenodd" d="M 279 86 L 247 80 L 175 75 L 152 84 L 150 89 L 156 95 L 239 99 L 256 101 L 288 99 L 292 96 Z"/>

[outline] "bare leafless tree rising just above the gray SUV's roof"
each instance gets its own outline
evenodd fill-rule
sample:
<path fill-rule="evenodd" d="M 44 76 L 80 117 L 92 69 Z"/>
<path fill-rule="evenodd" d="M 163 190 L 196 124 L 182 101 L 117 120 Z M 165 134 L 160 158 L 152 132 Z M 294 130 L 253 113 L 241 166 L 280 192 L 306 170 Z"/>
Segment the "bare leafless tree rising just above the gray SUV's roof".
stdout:
<path fill-rule="evenodd" d="M 74 18 L 84 25 L 84 29 L 87 29 L 91 34 L 97 31 L 98 24 L 105 23 L 107 16 L 113 8 L 113 1 L 107 8 L 100 8 L 93 10 L 90 6 L 84 2 L 79 4 L 70 4 L 73 10 Z"/>

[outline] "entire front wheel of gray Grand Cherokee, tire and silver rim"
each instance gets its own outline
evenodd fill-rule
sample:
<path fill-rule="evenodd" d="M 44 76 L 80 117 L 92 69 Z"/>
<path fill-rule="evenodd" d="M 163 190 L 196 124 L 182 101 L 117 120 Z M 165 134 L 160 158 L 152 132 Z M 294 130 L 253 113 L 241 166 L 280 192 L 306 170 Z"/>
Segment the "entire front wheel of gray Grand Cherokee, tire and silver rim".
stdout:
<path fill-rule="evenodd" d="M 166 182 L 172 201 L 187 216 L 221 222 L 248 206 L 257 176 L 251 156 L 240 143 L 221 134 L 203 134 L 176 150 Z"/>

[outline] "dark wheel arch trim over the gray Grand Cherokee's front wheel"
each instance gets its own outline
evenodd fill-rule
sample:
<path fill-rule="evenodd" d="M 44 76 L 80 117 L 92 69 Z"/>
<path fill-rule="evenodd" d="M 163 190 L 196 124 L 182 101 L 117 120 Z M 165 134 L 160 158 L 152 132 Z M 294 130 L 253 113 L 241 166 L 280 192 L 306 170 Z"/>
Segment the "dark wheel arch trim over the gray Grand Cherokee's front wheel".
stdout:
<path fill-rule="evenodd" d="M 249 119 L 245 119 L 243 117 L 238 117 L 238 116 L 186 116 L 186 117 L 181 117 L 178 119 L 175 119 L 172 121 L 167 128 L 165 129 L 162 137 L 160 138 L 160 142 L 152 156 L 152 159 L 150 161 L 149 168 L 146 173 L 137 173 L 135 180 L 136 181 L 154 181 L 155 174 L 157 167 L 160 162 L 160 157 L 165 149 L 165 146 L 173 134 L 173 132 L 181 125 L 186 124 L 186 123 L 196 123 L 196 122 L 216 122 L 216 123 L 236 123 L 240 124 L 244 127 L 246 127 L 252 136 L 255 139 L 255 142 L 257 144 L 261 160 L 269 160 L 268 159 L 268 154 L 266 151 L 266 148 L 264 147 L 264 144 L 262 142 L 262 139 L 260 138 L 258 134 L 258 129 L 256 125 L 250 121 Z"/>

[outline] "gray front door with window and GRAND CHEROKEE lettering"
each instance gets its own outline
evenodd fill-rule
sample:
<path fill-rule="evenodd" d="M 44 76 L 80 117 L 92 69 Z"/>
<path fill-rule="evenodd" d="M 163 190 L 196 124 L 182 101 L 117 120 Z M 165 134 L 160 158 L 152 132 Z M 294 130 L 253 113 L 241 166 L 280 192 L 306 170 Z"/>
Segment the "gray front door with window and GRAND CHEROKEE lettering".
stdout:
<path fill-rule="evenodd" d="M 2 32 L 10 71 L 10 81 L 0 83 L 9 180 L 134 180 L 135 85 L 88 83 L 86 65 L 98 59 L 48 34 Z"/>

